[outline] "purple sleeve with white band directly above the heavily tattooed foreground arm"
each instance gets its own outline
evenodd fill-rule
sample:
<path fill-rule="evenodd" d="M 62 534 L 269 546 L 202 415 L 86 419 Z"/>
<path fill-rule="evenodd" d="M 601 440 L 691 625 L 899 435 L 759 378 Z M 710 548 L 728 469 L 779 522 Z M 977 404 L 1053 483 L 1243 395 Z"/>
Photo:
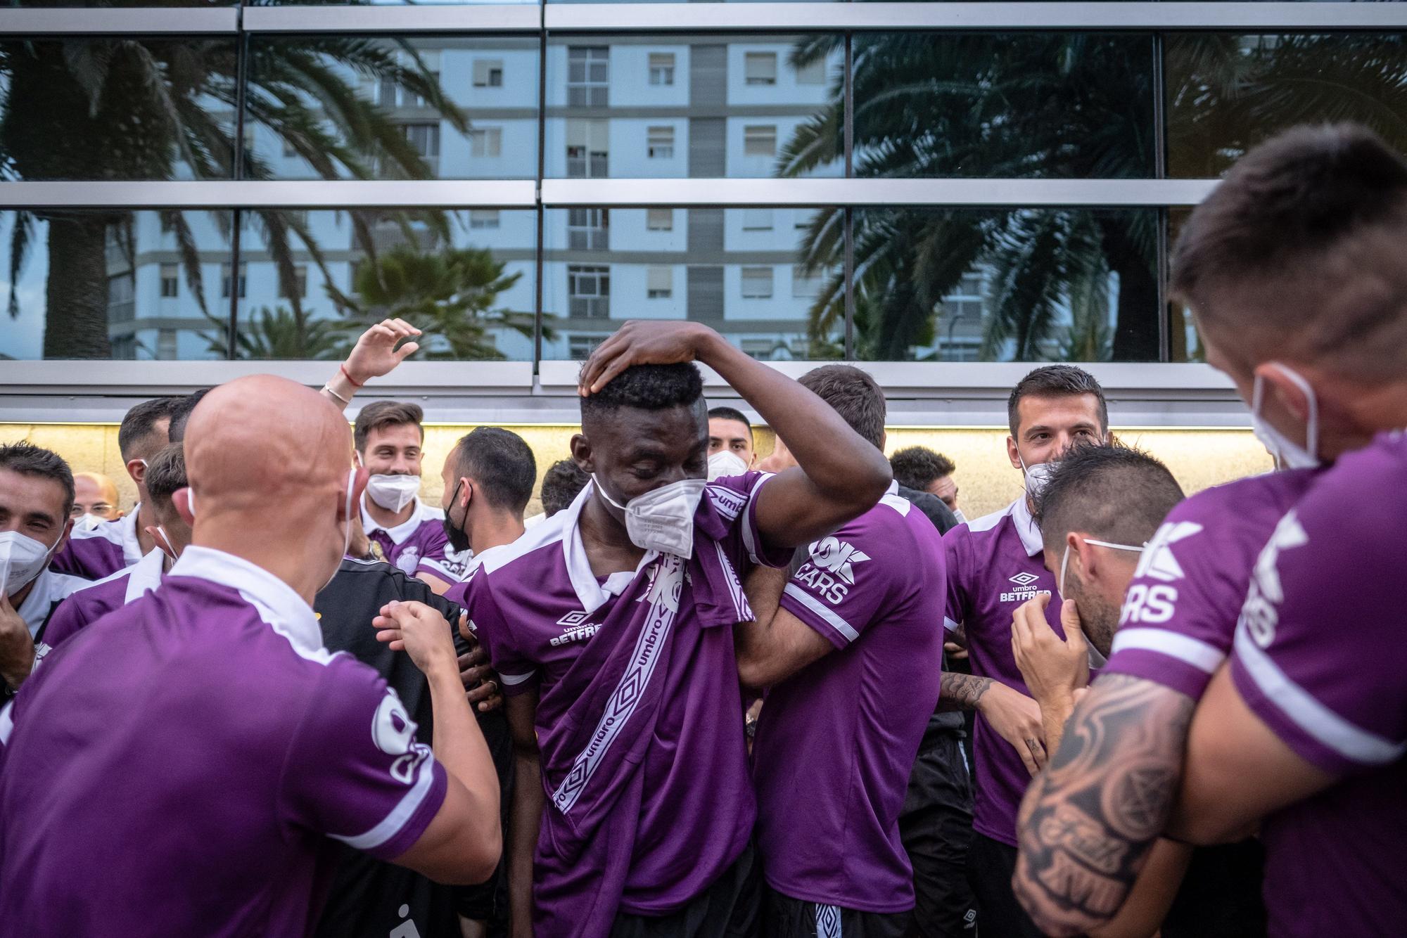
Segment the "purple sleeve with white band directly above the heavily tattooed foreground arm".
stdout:
<path fill-rule="evenodd" d="M 1231 650 L 1248 564 L 1216 550 L 1196 496 L 1144 548 L 1124 593 L 1103 674 L 1126 674 L 1200 700 Z"/>

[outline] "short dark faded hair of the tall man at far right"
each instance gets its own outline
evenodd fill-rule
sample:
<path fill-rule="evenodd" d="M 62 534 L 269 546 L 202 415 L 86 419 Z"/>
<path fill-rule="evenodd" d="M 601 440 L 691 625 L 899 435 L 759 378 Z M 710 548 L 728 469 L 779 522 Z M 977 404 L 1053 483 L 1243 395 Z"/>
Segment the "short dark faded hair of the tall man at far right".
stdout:
<path fill-rule="evenodd" d="M 1242 156 L 1192 212 L 1171 287 L 1199 321 L 1235 332 L 1233 353 L 1400 374 L 1404 240 L 1407 160 L 1355 124 L 1296 127 Z"/>

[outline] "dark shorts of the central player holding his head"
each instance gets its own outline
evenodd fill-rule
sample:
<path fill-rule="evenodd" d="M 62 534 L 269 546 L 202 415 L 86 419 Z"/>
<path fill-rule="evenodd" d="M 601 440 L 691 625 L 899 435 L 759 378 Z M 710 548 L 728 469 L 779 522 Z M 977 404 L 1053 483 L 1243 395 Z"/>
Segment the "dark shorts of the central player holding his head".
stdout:
<path fill-rule="evenodd" d="M 761 938 L 761 876 L 747 849 L 712 886 L 668 915 L 618 913 L 611 938 Z"/>

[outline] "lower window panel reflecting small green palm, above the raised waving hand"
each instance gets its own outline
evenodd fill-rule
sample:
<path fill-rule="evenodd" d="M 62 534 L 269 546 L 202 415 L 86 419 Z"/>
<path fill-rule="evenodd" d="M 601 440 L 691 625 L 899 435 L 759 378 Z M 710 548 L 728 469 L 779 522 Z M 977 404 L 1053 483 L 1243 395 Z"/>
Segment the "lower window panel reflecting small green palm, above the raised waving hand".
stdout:
<path fill-rule="evenodd" d="M 367 325 L 401 316 L 424 330 L 416 359 L 532 359 L 532 210 L 310 211 L 301 232 L 286 212 L 250 214 L 238 357 L 336 360 Z"/>

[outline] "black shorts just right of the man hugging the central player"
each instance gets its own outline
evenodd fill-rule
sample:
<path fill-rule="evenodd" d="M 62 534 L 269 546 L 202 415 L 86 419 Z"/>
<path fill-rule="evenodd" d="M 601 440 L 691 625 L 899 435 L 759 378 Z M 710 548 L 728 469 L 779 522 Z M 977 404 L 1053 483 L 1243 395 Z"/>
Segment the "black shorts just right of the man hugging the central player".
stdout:
<path fill-rule="evenodd" d="M 967 875 L 972 786 L 957 733 L 924 735 L 899 814 L 899 837 L 913 865 L 917 903 L 906 938 L 975 935 L 976 900 Z"/>

